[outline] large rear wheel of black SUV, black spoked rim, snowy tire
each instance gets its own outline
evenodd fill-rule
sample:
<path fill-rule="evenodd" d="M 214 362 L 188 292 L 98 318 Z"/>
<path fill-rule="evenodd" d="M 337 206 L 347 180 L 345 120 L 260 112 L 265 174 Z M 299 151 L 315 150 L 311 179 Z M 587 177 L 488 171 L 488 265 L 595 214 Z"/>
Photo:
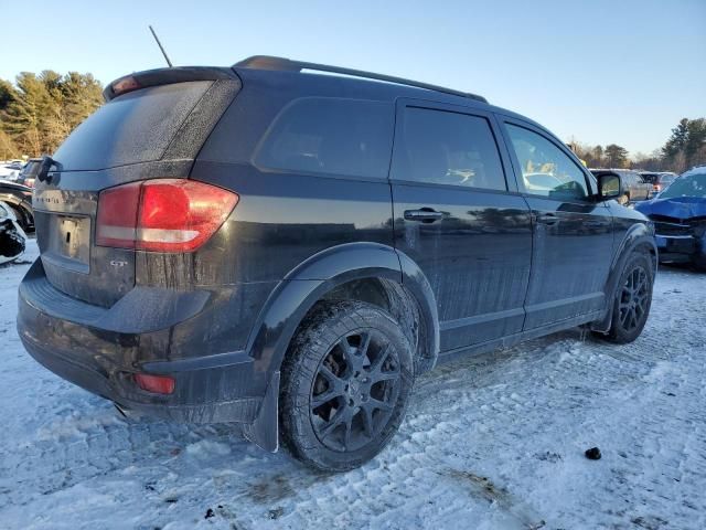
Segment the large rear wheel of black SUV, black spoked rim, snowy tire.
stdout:
<path fill-rule="evenodd" d="M 414 384 L 399 324 L 360 301 L 322 303 L 282 364 L 282 445 L 322 471 L 374 458 L 397 432 Z"/>

